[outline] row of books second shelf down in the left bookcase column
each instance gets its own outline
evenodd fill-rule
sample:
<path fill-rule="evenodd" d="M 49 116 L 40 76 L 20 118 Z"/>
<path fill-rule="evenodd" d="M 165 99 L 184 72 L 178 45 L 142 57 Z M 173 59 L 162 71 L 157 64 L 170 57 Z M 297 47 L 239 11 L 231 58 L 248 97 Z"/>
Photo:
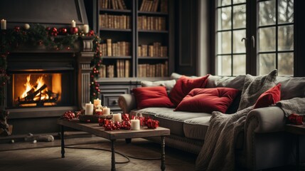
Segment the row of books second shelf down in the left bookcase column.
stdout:
<path fill-rule="evenodd" d="M 130 16 L 100 14 L 100 28 L 130 29 Z"/>

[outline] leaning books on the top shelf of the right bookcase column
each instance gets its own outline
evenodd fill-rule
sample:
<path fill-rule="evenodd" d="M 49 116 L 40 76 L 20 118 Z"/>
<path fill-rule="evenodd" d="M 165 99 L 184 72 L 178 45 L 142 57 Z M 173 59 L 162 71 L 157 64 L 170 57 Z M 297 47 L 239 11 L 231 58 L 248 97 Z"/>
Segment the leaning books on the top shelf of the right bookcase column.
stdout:
<path fill-rule="evenodd" d="M 167 12 L 168 1 L 161 0 L 160 4 L 160 11 Z M 159 7 L 159 0 L 143 0 L 140 6 L 139 11 L 149 11 L 149 12 L 156 12 L 158 11 Z"/>

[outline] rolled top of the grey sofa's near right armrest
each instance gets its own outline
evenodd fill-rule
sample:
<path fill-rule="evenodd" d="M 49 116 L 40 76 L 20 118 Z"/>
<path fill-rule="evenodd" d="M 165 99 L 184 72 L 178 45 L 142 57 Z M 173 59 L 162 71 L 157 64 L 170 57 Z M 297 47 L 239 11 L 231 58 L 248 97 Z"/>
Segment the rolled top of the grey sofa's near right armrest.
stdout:
<path fill-rule="evenodd" d="M 255 128 L 250 130 L 253 130 L 255 133 L 272 133 L 284 130 L 285 124 L 286 118 L 281 108 L 277 106 L 257 108 L 248 113 L 246 130 L 252 125 Z"/>

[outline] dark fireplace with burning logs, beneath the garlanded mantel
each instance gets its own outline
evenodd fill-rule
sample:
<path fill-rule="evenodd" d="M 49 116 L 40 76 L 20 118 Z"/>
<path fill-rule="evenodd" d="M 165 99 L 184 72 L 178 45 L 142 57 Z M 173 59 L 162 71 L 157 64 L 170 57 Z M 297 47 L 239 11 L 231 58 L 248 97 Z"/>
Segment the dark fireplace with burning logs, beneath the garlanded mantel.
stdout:
<path fill-rule="evenodd" d="M 8 123 L 13 125 L 14 135 L 56 133 L 60 115 L 82 108 L 79 101 L 82 92 L 88 90 L 79 86 L 86 74 L 81 69 L 81 58 L 82 53 L 76 50 L 17 51 L 8 56 L 6 110 L 10 112 Z"/>

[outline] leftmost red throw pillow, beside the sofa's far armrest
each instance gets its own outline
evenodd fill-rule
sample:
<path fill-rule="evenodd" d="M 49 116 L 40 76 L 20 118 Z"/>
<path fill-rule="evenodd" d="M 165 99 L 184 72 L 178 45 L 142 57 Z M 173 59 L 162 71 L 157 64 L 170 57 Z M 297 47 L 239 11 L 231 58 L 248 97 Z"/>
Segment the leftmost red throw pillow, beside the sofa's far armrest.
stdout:
<path fill-rule="evenodd" d="M 132 90 L 137 101 L 137 108 L 164 107 L 171 108 L 173 103 L 169 100 L 166 87 L 141 87 Z"/>

